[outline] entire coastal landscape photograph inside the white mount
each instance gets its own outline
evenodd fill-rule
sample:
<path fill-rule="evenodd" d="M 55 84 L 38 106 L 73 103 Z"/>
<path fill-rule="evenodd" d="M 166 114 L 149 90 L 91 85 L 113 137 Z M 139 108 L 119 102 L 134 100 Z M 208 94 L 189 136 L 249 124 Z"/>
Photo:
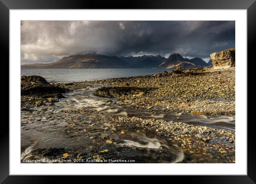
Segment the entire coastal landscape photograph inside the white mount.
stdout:
<path fill-rule="evenodd" d="M 235 163 L 235 21 L 21 21 L 21 163 Z"/>

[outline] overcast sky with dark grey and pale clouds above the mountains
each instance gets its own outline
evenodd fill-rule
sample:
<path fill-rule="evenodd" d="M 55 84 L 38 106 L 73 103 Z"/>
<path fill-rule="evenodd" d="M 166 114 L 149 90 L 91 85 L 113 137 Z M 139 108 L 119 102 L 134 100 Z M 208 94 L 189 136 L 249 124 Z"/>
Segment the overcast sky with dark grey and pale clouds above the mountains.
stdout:
<path fill-rule="evenodd" d="M 22 21 L 21 64 L 95 52 L 109 56 L 177 52 L 208 62 L 235 47 L 235 21 Z"/>

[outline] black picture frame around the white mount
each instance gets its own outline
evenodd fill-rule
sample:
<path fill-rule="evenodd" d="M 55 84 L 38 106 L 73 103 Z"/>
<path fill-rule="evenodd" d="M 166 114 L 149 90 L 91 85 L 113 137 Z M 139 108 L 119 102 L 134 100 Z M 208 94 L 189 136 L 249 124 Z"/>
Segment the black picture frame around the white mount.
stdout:
<path fill-rule="evenodd" d="M 0 0 L 0 51 L 5 61 L 9 61 L 9 10 L 10 9 L 246 9 L 247 10 L 247 60 L 253 62 L 253 44 L 256 40 L 256 1 L 255 0 L 129 0 L 129 1 L 84 1 L 84 0 Z M 247 62 L 247 61 L 244 61 Z M 5 62 L 7 63 L 7 62 Z M 248 63 L 248 62 L 247 62 Z M 6 67 L 9 68 L 9 65 Z M 248 68 L 248 67 L 247 67 Z M 9 84 L 8 84 L 9 85 Z M 8 86 L 6 84 L 6 88 Z M 9 89 L 9 88 L 8 88 Z M 9 90 L 8 90 L 9 92 Z M 4 96 L 9 96 L 5 91 Z M 8 94 L 7 94 L 8 93 Z M 11 98 L 11 96 L 9 96 Z M 9 109 L 11 111 L 11 109 Z M 247 122 L 239 122 L 247 123 Z M 247 175 L 229 176 L 172 176 L 172 179 L 181 179 L 189 183 L 255 183 L 255 138 L 253 124 L 247 124 Z M 1 152 L 0 152 L 0 182 L 2 183 L 45 183 L 51 180 L 50 176 L 14 176 L 9 175 L 9 124 L 1 123 Z M 78 176 L 76 176 L 78 177 Z M 88 176 L 87 176 L 88 177 Z M 178 177 L 178 178 L 177 178 Z M 80 178 L 80 177 L 79 177 Z M 104 176 L 103 180 L 109 180 Z M 114 181 L 130 183 L 132 178 L 127 176 L 115 177 Z M 151 177 L 148 177 L 151 179 Z M 74 180 L 65 176 L 55 178 L 58 183 Z M 61 181 L 62 180 L 62 181 Z M 77 180 L 77 179 L 76 179 Z M 101 179 L 98 178 L 98 181 Z M 161 179 L 162 180 L 162 179 Z M 160 181 L 161 181 L 160 180 Z M 87 180 L 89 181 L 89 180 Z M 163 181 L 163 180 L 162 180 Z M 86 182 L 86 181 L 85 181 Z"/>

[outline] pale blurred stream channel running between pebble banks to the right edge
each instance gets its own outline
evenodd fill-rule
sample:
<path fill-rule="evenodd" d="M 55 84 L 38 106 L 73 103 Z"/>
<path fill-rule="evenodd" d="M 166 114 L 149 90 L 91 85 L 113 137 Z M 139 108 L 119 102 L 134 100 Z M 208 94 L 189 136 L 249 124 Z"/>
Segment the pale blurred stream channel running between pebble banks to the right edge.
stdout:
<path fill-rule="evenodd" d="M 77 90 L 74 92 L 65 93 L 66 99 L 61 99 L 58 103 L 55 111 L 61 111 L 70 108 L 89 108 L 97 112 L 107 112 L 117 116 L 124 117 L 139 117 L 143 119 L 154 118 L 164 119 L 166 121 L 177 121 L 179 111 L 172 111 L 166 114 L 152 113 L 146 109 L 129 108 L 119 106 L 117 100 L 114 98 L 103 98 L 94 96 L 93 93 L 97 88 L 105 85 L 89 86 L 83 90 Z M 112 101 L 113 103 L 106 103 Z M 183 113 L 183 116 L 179 117 L 179 121 L 188 124 L 208 126 L 216 129 L 230 129 L 235 130 L 235 117 L 233 116 L 205 116 L 205 115 L 193 115 L 191 113 Z"/>

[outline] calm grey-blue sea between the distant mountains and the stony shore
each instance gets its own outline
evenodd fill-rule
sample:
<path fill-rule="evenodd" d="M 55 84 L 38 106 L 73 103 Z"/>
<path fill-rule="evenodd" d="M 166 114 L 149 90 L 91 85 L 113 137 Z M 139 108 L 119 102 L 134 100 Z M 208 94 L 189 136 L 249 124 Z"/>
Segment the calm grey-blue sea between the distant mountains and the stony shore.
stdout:
<path fill-rule="evenodd" d="M 78 68 L 78 69 L 21 69 L 21 75 L 42 76 L 48 82 L 79 82 L 105 78 L 151 75 L 171 71 L 160 68 Z"/>

